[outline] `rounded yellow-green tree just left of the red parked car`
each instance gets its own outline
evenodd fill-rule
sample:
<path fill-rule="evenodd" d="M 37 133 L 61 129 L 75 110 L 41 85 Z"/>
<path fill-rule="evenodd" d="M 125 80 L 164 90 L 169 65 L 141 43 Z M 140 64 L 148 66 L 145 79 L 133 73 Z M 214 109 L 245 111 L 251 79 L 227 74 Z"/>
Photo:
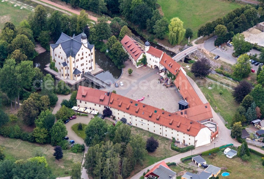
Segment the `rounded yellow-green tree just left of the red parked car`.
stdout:
<path fill-rule="evenodd" d="M 242 54 L 237 59 L 235 65 L 232 66 L 232 69 L 234 71 L 233 75 L 236 78 L 239 79 L 245 78 L 251 72 L 251 66 L 248 61 L 249 61 L 249 56 L 247 54 Z"/>

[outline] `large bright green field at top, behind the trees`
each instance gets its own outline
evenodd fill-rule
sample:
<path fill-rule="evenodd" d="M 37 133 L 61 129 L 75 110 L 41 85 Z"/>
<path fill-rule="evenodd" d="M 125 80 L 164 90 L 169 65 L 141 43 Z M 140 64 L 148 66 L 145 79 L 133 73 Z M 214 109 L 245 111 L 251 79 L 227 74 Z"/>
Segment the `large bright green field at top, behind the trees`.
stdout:
<path fill-rule="evenodd" d="M 179 17 L 185 28 L 191 28 L 194 32 L 193 38 L 197 37 L 200 26 L 223 17 L 232 9 L 241 6 L 221 0 L 158 0 L 158 4 L 161 5 L 168 20 Z"/>

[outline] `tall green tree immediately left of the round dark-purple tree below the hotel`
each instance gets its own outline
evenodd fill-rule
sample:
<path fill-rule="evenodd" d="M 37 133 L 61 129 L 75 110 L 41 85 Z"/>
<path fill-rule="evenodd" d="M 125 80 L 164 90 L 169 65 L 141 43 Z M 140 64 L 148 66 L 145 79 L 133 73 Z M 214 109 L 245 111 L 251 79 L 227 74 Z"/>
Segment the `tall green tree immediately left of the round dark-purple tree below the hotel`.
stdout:
<path fill-rule="evenodd" d="M 136 134 L 130 140 L 130 145 L 133 148 L 134 159 L 142 164 L 143 159 L 145 158 L 146 151 L 146 141 L 139 135 Z"/>

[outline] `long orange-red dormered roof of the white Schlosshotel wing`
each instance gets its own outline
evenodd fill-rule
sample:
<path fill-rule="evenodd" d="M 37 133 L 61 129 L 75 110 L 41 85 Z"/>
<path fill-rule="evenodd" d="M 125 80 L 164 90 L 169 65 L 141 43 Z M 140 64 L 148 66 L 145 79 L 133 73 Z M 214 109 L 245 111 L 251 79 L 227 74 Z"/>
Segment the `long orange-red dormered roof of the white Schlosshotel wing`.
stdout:
<path fill-rule="evenodd" d="M 121 110 L 123 112 L 138 116 L 146 120 L 150 120 L 152 122 L 155 122 L 163 126 L 170 127 L 172 129 L 181 131 L 191 136 L 197 136 L 200 129 L 206 127 L 205 125 L 198 123 L 196 121 L 193 121 L 191 119 L 187 119 L 179 115 L 169 113 L 162 109 L 158 109 L 153 106 L 140 103 L 138 101 L 132 100 L 130 98 L 126 98 L 118 94 L 112 93 L 110 101 L 112 102 L 109 103 L 109 107 Z M 121 102 L 122 104 L 120 105 Z M 129 109 L 127 109 L 128 104 L 130 104 Z M 143 107 L 143 105 L 145 107 Z M 150 115 L 151 117 L 149 117 Z M 192 122 L 192 124 L 190 122 Z M 190 130 L 187 131 L 187 128 L 189 126 L 191 126 Z"/>

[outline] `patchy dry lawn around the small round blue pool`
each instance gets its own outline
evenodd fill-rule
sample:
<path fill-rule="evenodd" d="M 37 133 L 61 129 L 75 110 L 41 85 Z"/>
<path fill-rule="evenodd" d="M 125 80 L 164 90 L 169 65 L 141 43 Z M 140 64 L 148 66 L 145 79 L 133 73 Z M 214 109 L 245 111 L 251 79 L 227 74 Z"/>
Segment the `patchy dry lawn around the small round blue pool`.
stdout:
<path fill-rule="evenodd" d="M 242 161 L 241 158 L 227 158 L 223 152 L 218 152 L 217 156 L 210 159 L 209 156 L 203 156 L 208 164 L 214 165 L 216 167 L 227 167 L 231 170 L 229 179 L 237 178 L 258 178 L 257 176 L 264 176 L 264 166 L 261 164 L 262 160 L 260 156 L 250 153 L 251 157 L 249 161 Z M 223 173 L 224 171 L 221 171 Z M 218 175 L 219 178 L 225 178 Z"/>

